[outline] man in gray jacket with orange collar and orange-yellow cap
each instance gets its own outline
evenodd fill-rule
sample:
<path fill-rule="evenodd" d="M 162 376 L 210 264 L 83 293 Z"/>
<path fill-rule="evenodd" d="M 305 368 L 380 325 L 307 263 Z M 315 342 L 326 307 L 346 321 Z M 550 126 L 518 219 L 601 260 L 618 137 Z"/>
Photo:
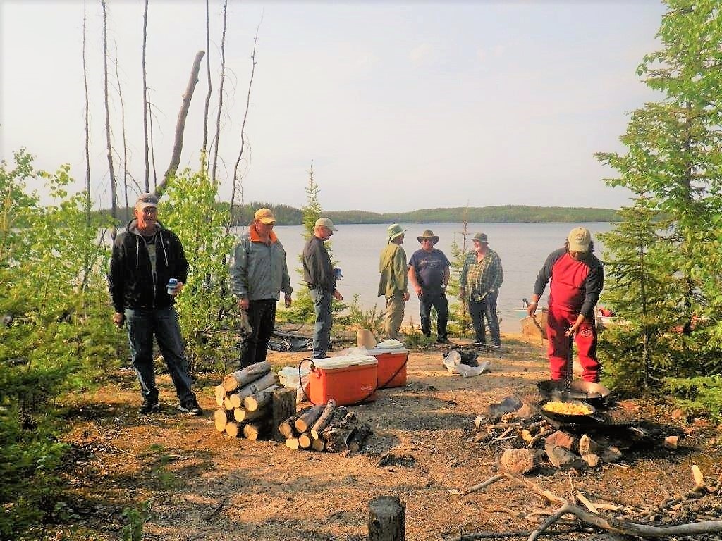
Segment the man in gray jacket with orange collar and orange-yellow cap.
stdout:
<path fill-rule="evenodd" d="M 268 344 L 276 325 L 276 304 L 284 292 L 291 306 L 291 278 L 286 251 L 273 232 L 276 219 L 269 208 L 259 208 L 253 223 L 233 249 L 230 288 L 238 307 L 248 312 L 251 335 L 240 353 L 240 368 L 266 360 Z"/>

